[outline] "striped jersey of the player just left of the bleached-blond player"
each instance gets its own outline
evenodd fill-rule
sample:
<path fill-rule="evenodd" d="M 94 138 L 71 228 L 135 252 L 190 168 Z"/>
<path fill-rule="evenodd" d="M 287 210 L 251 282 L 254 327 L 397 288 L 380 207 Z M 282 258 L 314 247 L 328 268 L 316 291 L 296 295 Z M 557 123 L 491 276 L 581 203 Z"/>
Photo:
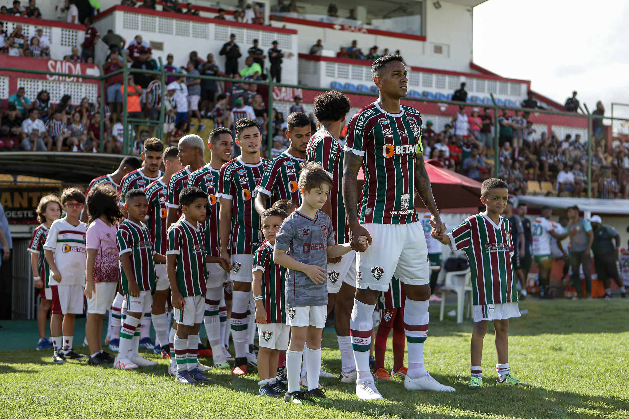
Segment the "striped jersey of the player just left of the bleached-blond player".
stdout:
<path fill-rule="evenodd" d="M 168 237 L 166 220 L 168 207 L 166 206 L 168 185 L 161 179 L 156 180 L 145 189 L 147 194 L 147 228 L 153 243 L 153 249 L 159 254 L 166 254 Z"/>

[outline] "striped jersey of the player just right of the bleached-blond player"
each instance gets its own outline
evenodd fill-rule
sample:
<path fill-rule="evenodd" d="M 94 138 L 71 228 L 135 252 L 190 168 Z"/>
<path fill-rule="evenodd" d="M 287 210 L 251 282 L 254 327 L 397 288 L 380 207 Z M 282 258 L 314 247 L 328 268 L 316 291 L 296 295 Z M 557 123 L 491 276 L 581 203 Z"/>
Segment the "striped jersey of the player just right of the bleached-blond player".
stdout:
<path fill-rule="evenodd" d="M 208 194 L 208 204 L 211 210 L 208 220 L 204 223 L 205 251 L 209 256 L 220 256 L 221 243 L 218 236 L 218 213 L 220 204 L 216 198 L 216 188 L 221 171 L 212 168 L 209 163 L 199 170 L 193 171 L 188 178 L 188 186 L 200 188 Z"/>

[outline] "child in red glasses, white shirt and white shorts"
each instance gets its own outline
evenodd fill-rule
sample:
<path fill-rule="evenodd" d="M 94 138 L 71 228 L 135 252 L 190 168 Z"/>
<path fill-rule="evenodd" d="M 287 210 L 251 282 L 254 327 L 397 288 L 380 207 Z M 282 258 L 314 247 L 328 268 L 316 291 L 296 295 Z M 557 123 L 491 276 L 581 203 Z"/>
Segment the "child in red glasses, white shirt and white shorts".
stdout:
<path fill-rule="evenodd" d="M 50 334 L 55 347 L 52 356 L 55 364 L 63 364 L 66 359 L 87 357 L 72 349 L 74 316 L 83 313 L 87 224 L 81 222 L 79 216 L 85 205 L 85 195 L 77 188 L 67 188 L 61 195 L 61 202 L 65 217 L 52 223 L 43 245 L 52 277 Z"/>

